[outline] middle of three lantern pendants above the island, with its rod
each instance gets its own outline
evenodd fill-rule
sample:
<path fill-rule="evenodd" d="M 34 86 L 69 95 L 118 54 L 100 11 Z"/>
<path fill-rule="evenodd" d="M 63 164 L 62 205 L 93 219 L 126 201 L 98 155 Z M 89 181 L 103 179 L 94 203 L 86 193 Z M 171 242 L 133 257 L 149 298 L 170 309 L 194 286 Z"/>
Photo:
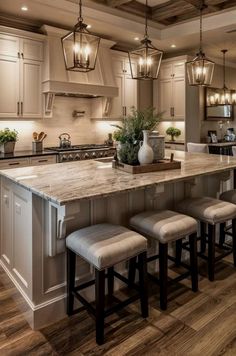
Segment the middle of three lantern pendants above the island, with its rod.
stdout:
<path fill-rule="evenodd" d="M 157 49 L 148 36 L 148 2 L 146 0 L 145 35 L 138 48 L 130 51 L 129 63 L 133 79 L 154 80 L 158 78 L 163 51 Z M 137 69 L 133 60 L 137 60 Z"/>

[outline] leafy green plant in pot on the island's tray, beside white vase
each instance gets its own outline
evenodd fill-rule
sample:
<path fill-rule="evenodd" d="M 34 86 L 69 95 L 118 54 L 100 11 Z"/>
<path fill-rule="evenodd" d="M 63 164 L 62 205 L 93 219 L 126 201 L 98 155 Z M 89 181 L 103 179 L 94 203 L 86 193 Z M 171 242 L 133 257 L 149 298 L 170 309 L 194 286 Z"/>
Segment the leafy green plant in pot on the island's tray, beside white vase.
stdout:
<path fill-rule="evenodd" d="M 160 122 L 162 114 L 156 113 L 155 108 L 144 110 L 133 108 L 131 115 L 122 120 L 122 126 L 112 125 L 117 128 L 113 133 L 115 141 L 120 143 L 119 159 L 123 163 L 137 165 L 140 141 L 143 140 L 143 130 L 153 131 Z"/>

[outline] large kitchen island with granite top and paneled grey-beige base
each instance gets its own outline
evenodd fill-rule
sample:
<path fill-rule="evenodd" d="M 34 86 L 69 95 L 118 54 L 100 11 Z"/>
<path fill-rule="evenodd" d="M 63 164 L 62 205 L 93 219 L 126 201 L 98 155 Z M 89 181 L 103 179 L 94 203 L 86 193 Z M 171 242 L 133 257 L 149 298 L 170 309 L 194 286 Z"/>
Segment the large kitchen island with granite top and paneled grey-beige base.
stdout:
<path fill-rule="evenodd" d="M 104 221 L 128 226 L 142 210 L 174 208 L 190 194 L 218 197 L 232 187 L 236 158 L 186 152 L 175 158 L 181 169 L 138 175 L 113 169 L 107 159 L 0 171 L 0 264 L 22 294 L 32 328 L 65 316 L 68 233 Z M 80 281 L 91 279 L 86 262 L 78 258 L 77 268 Z"/>

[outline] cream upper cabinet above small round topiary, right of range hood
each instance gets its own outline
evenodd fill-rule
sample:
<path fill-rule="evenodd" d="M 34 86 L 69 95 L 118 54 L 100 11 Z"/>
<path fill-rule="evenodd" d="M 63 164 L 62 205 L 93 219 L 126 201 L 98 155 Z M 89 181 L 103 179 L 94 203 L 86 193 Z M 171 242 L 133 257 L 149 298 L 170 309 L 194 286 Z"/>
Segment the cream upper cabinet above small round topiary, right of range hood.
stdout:
<path fill-rule="evenodd" d="M 161 65 L 158 108 L 164 112 L 164 120 L 185 119 L 185 62 L 186 60 L 167 60 Z"/>

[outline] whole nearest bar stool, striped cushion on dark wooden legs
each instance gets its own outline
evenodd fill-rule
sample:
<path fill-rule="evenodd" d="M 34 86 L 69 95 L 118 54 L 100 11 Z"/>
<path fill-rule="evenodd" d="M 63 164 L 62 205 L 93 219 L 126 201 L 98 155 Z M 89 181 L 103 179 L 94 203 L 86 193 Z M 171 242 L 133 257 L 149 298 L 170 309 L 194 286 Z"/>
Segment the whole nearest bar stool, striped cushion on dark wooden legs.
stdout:
<path fill-rule="evenodd" d="M 147 240 L 140 234 L 125 227 L 112 224 L 92 225 L 74 231 L 66 238 L 67 247 L 67 314 L 72 315 L 76 297 L 95 316 L 96 342 L 104 342 L 104 319 L 122 307 L 140 299 L 142 316 L 148 316 L 147 293 Z M 95 268 L 95 280 L 75 286 L 76 255 L 86 260 Z M 138 257 L 139 285 L 133 284 L 137 293 L 105 310 L 105 278 L 108 280 L 108 297 L 112 299 L 114 277 L 128 284 L 128 279 L 114 270 L 114 265 Z M 107 270 L 107 274 L 105 271 Z M 95 308 L 79 293 L 84 288 L 95 284 Z M 117 299 L 116 299 L 117 301 Z"/>

